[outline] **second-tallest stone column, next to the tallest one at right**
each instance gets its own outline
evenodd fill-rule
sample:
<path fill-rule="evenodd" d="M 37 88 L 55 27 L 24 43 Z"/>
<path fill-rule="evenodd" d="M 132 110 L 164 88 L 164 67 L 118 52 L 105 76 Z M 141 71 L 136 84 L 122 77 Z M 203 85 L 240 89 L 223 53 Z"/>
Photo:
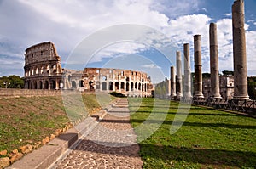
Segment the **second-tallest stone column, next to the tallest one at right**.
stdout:
<path fill-rule="evenodd" d="M 211 67 L 211 94 L 214 99 L 221 98 L 219 93 L 219 75 L 218 75 L 218 38 L 217 25 L 210 24 L 210 67 Z"/>

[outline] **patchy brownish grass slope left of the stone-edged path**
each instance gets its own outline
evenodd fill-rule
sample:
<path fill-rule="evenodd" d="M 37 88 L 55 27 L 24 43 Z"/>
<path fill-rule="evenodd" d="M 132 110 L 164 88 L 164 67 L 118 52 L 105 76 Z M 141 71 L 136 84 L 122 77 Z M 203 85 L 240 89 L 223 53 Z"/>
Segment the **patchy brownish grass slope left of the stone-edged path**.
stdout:
<path fill-rule="evenodd" d="M 83 94 L 82 99 L 67 97 L 66 104 L 73 104 L 73 107 L 66 109 L 61 95 L 0 99 L 0 151 L 10 152 L 21 145 L 41 141 L 70 122 L 82 121 L 88 115 L 86 112 L 93 113 L 113 99 L 102 95 L 99 101 L 97 97 L 95 94 Z M 78 109 L 79 100 L 85 106 Z"/>

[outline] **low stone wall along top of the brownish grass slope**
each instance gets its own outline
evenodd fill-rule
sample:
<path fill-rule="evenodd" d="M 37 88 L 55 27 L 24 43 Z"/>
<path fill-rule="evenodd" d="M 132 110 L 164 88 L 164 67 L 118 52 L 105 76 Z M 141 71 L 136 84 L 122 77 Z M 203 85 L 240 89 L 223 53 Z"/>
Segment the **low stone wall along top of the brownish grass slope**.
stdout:
<path fill-rule="evenodd" d="M 61 90 L 32 90 L 32 89 L 0 88 L 0 98 L 55 96 L 60 94 L 61 94 Z"/>

